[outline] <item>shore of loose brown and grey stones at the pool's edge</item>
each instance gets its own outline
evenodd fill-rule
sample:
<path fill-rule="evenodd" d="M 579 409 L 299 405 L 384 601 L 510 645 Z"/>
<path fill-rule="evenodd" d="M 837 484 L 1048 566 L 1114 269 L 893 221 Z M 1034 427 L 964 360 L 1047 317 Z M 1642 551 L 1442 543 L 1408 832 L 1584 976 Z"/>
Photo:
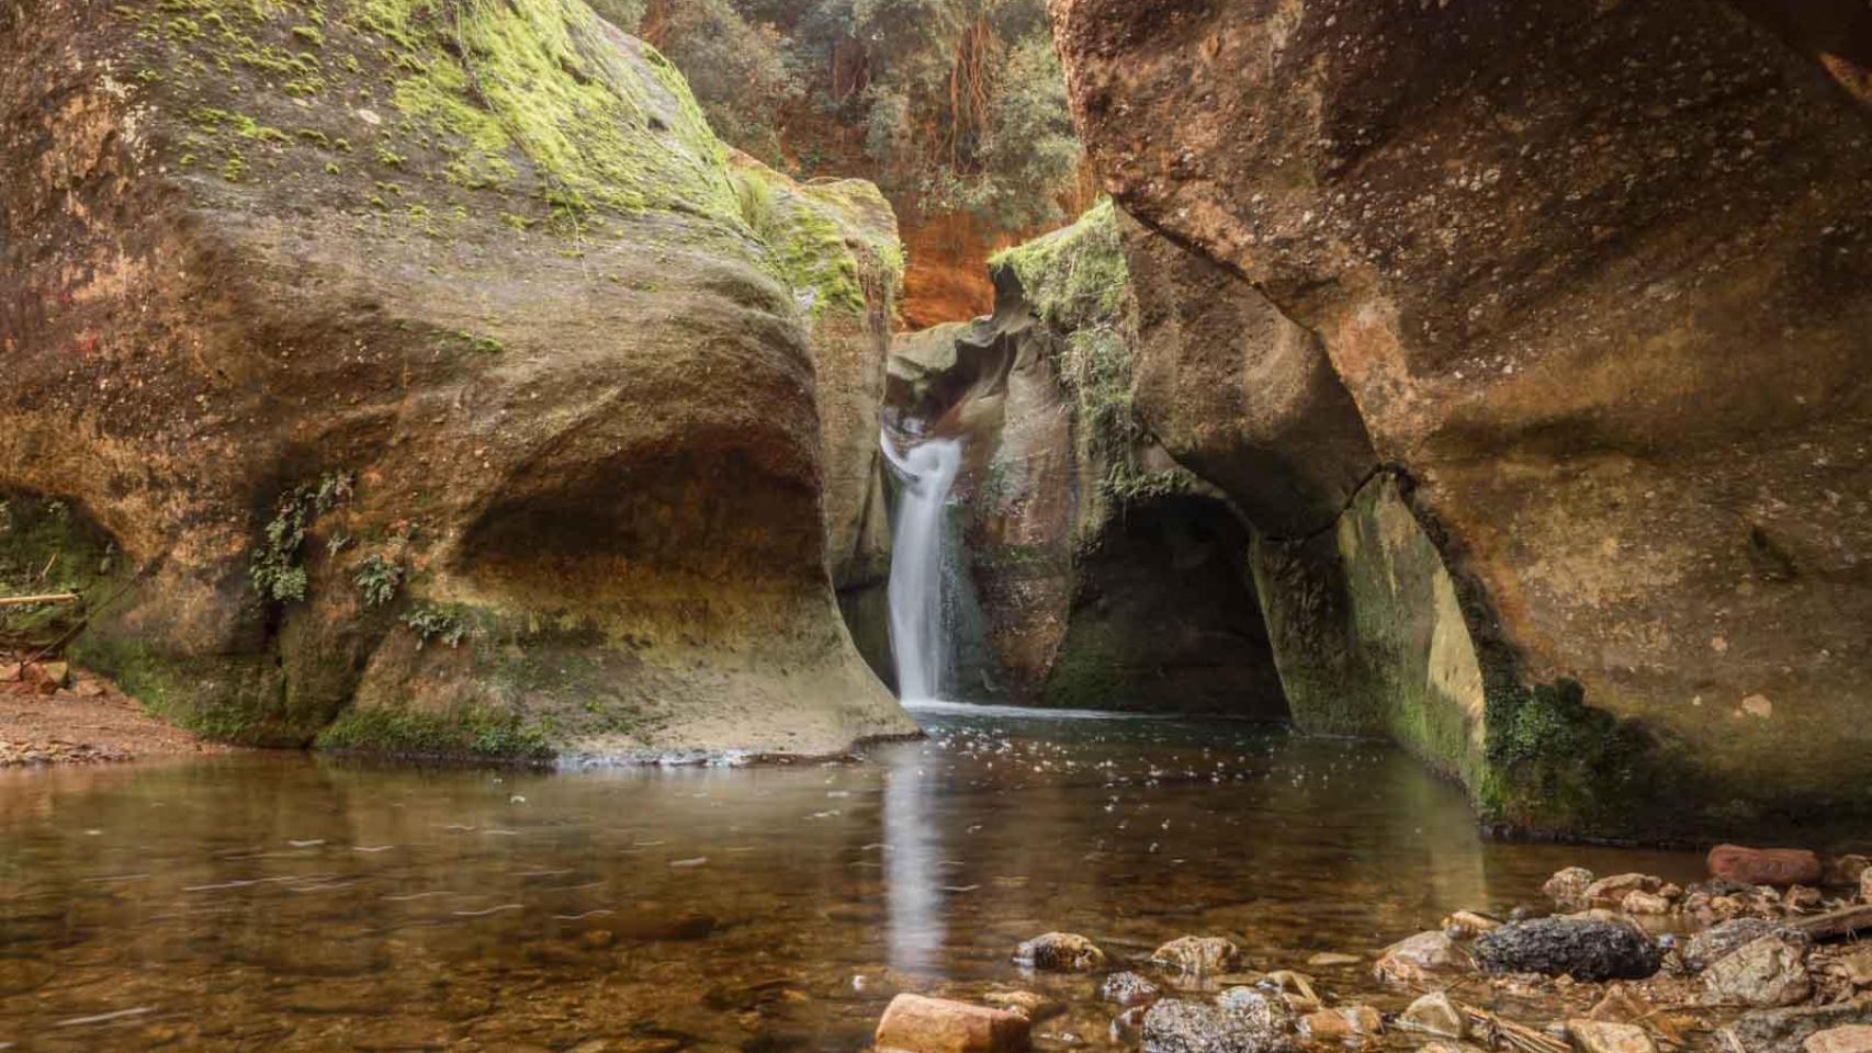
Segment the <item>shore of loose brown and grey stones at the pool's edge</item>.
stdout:
<path fill-rule="evenodd" d="M 1455 911 L 1370 954 L 1249 961 L 1222 935 L 1148 954 L 1050 931 L 1020 943 L 1026 986 L 897 995 L 874 1046 L 1022 1053 L 1084 1042 L 1144 1053 L 1865 1053 L 1872 1049 L 1872 868 L 1718 845 L 1687 887 L 1571 866 L 1550 903 Z M 1762 877 L 1762 881 L 1745 881 Z M 1799 883 L 1806 877 L 1812 883 Z M 1260 969 L 1258 965 L 1267 965 Z M 1104 1031 L 1101 1036 L 1099 1031 Z"/>

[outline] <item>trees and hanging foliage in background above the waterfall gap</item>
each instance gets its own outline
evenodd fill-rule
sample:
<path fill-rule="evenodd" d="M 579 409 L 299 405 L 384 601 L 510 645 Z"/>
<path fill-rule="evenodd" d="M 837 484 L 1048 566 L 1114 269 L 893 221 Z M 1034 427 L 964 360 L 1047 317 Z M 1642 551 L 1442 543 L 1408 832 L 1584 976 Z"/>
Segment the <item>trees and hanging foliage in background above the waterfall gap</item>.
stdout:
<path fill-rule="evenodd" d="M 998 234 L 1088 204 L 1045 0 L 595 0 L 728 142 Z"/>

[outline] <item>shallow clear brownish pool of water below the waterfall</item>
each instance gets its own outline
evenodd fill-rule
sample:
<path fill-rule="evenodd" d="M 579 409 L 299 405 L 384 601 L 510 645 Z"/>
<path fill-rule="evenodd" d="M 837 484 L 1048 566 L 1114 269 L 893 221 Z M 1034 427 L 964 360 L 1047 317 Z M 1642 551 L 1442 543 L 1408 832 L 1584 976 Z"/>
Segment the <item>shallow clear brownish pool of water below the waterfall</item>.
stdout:
<path fill-rule="evenodd" d="M 1397 750 L 1254 726 L 925 713 L 869 763 L 412 771 L 309 756 L 0 772 L 0 1044 L 17 1049 L 835 1049 L 889 997 L 1043 989 L 1046 930 L 1119 959 L 1228 935 L 1368 952 L 1558 866 L 1477 838 Z M 1365 969 L 1322 976 L 1348 989 Z"/>

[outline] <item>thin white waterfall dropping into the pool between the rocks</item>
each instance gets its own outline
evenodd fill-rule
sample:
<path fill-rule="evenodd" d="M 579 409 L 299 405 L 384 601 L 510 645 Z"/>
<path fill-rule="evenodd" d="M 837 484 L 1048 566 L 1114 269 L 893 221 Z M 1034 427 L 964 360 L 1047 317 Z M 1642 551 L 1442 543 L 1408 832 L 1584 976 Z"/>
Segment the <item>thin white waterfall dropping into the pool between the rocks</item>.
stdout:
<path fill-rule="evenodd" d="M 884 456 L 904 481 L 891 537 L 891 655 L 904 701 L 942 698 L 949 670 L 943 612 L 943 505 L 962 468 L 962 443 L 929 440 L 899 456 L 884 436 Z"/>

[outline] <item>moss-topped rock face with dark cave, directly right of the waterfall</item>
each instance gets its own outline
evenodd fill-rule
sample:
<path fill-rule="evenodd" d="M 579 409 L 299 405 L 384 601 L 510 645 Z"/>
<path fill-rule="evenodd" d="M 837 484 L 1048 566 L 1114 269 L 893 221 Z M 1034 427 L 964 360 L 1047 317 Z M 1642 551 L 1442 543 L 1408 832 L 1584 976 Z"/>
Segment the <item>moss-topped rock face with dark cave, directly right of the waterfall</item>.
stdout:
<path fill-rule="evenodd" d="M 994 260 L 996 312 L 899 339 L 887 417 L 964 441 L 957 692 L 1279 718 L 1249 533 L 1133 413 L 1118 219 Z"/>

